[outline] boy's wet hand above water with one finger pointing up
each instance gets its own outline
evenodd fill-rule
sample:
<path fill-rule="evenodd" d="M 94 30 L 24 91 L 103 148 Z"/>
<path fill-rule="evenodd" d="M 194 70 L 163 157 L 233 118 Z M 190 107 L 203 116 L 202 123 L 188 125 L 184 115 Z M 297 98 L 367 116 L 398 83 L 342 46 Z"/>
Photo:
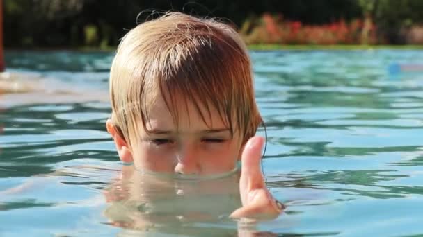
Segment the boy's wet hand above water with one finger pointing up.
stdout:
<path fill-rule="evenodd" d="M 260 169 L 263 144 L 262 137 L 252 137 L 242 152 L 239 179 L 242 207 L 232 212 L 231 218 L 271 219 L 285 209 L 283 204 L 272 197 L 264 183 Z"/>

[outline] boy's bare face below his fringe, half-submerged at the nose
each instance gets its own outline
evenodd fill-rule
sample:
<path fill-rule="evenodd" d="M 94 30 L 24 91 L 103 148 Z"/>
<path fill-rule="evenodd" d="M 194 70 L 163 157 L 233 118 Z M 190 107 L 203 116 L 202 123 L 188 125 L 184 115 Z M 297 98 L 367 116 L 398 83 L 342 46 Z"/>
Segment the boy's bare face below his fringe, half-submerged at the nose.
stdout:
<path fill-rule="evenodd" d="M 243 145 L 239 131 L 232 136 L 213 107 L 210 116 L 205 107 L 200 107 L 205 115 L 203 121 L 192 103 L 182 100 L 176 105 L 177 125 L 163 98 L 155 100 L 146 121 L 150 132 L 140 128 L 140 136 L 133 142 L 135 149 L 131 149 L 130 156 L 134 166 L 138 170 L 184 175 L 216 175 L 233 170 Z M 118 142 L 116 145 L 119 149 Z M 128 160 L 119 154 L 122 161 Z"/>

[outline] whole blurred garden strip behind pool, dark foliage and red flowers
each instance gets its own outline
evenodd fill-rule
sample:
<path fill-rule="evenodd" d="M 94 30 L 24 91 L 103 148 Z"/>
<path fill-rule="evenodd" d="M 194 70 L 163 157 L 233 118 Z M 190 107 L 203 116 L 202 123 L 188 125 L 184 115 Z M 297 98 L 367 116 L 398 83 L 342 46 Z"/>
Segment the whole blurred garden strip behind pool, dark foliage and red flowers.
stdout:
<path fill-rule="evenodd" d="M 423 44 L 420 0 L 3 0 L 6 49 L 114 48 L 156 11 L 221 17 L 248 44 Z"/>

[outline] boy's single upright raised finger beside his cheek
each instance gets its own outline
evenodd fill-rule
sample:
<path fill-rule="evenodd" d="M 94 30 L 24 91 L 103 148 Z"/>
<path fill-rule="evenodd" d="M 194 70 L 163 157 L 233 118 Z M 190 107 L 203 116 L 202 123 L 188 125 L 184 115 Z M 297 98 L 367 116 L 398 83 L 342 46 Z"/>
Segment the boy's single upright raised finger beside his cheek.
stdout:
<path fill-rule="evenodd" d="M 263 145 L 262 137 L 252 137 L 242 152 L 240 182 L 246 191 L 264 187 L 264 177 L 260 169 Z"/>

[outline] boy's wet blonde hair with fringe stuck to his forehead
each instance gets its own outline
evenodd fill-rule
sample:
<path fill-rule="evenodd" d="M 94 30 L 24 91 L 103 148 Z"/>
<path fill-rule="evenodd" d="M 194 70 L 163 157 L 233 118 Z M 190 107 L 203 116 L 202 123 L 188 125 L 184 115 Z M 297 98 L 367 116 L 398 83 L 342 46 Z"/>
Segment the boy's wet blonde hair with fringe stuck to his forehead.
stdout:
<path fill-rule="evenodd" d="M 123 37 L 111 66 L 110 96 L 112 123 L 129 146 L 139 139 L 140 121 L 146 128 L 158 96 L 174 121 L 181 96 L 185 105 L 193 103 L 203 121 L 214 107 L 232 134 L 238 130 L 244 141 L 262 122 L 241 37 L 215 19 L 180 12 L 140 24 Z"/>

